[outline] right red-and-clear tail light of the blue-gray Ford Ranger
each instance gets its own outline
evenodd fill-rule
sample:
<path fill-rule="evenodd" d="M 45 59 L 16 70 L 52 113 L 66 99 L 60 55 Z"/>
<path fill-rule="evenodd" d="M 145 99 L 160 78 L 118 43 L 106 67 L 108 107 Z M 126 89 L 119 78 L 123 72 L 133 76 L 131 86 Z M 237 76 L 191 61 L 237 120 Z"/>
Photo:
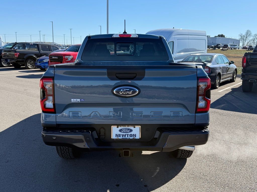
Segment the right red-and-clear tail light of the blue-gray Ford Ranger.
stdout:
<path fill-rule="evenodd" d="M 205 113 L 210 109 L 210 78 L 201 77 L 197 80 L 196 113 Z"/>

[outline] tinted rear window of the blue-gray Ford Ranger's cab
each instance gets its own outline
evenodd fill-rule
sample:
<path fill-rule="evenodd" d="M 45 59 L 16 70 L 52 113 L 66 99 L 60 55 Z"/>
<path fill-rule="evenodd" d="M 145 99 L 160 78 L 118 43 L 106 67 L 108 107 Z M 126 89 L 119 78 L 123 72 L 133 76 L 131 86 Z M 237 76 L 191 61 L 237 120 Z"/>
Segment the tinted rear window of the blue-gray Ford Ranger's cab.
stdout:
<path fill-rule="evenodd" d="M 168 60 L 162 39 L 99 38 L 88 39 L 81 60 L 147 61 Z"/>

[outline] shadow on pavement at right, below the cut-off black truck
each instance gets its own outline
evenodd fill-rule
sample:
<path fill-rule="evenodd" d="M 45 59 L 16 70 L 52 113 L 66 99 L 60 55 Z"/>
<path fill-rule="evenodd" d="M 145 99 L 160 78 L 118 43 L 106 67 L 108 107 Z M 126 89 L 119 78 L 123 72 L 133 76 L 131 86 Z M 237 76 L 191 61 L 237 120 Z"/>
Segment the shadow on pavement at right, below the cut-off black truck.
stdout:
<path fill-rule="evenodd" d="M 242 91 L 242 85 L 232 88 L 230 92 L 211 103 L 210 108 L 241 113 L 257 114 L 257 86 L 253 85 L 250 93 Z"/>

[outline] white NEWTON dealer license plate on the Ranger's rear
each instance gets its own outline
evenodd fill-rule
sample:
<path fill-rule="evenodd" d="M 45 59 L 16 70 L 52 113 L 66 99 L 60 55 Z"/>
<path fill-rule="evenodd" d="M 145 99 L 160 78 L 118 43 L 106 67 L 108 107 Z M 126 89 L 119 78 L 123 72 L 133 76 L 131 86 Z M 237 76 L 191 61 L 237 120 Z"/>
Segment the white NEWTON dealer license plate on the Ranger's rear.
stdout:
<path fill-rule="evenodd" d="M 112 139 L 135 140 L 141 138 L 140 125 L 113 125 Z"/>

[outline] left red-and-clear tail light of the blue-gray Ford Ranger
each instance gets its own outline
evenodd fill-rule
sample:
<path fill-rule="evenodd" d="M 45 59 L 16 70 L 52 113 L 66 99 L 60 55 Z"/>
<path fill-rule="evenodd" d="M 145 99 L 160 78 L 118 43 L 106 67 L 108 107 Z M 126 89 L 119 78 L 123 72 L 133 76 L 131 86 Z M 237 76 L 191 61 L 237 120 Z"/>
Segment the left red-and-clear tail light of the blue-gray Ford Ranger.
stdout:
<path fill-rule="evenodd" d="M 40 79 L 40 105 L 43 112 L 55 113 L 53 79 L 42 77 Z"/>

